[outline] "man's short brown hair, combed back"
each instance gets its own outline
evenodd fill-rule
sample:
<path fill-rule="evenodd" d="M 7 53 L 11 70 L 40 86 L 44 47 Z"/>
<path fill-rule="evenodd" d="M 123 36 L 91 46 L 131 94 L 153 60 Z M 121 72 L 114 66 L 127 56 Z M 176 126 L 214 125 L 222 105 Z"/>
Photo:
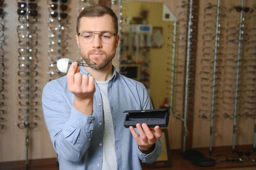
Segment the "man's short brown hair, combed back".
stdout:
<path fill-rule="evenodd" d="M 105 14 L 108 14 L 112 17 L 112 20 L 114 22 L 115 33 L 118 33 L 117 15 L 112 11 L 112 9 L 102 4 L 90 5 L 88 7 L 85 7 L 81 11 L 81 13 L 78 15 L 76 22 L 76 33 L 79 33 L 79 26 L 82 17 L 101 17 Z"/>

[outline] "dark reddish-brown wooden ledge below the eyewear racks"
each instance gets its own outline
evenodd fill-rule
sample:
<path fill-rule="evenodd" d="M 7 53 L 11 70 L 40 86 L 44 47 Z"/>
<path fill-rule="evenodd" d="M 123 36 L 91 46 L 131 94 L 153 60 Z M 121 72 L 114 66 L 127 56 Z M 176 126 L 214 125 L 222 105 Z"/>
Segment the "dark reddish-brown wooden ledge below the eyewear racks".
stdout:
<path fill-rule="evenodd" d="M 209 156 L 209 148 L 193 149 L 202 152 L 206 157 Z M 237 146 L 240 157 L 237 152 L 233 155 L 231 147 L 218 147 L 213 148 L 212 156 L 210 158 L 216 159 L 216 163 L 213 167 L 199 167 L 193 165 L 190 161 L 185 160 L 182 156 L 181 150 L 171 150 L 171 167 L 161 168 L 164 164 L 156 164 L 159 167 L 142 164 L 143 170 L 256 170 L 256 153 L 252 152 L 252 146 Z M 245 152 L 251 155 L 245 156 Z M 243 154 L 243 155 L 242 155 Z M 216 155 L 220 155 L 215 157 Z M 228 158 L 228 161 L 226 159 Z M 239 158 L 243 158 L 243 162 L 237 161 Z M 235 159 L 235 161 L 234 161 Z M 26 170 L 25 161 L 12 161 L 12 162 L 0 162 L 0 170 Z M 58 170 L 56 168 L 56 158 L 49 159 L 36 159 L 30 160 L 28 170 Z"/>

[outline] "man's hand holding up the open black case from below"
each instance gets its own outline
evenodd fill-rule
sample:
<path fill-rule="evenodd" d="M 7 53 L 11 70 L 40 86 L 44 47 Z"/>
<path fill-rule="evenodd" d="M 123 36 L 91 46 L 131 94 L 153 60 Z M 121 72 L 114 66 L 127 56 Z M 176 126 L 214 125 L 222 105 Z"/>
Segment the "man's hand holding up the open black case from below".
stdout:
<path fill-rule="evenodd" d="M 153 151 L 155 146 L 155 142 L 160 139 L 162 136 L 162 130 L 159 126 L 155 126 L 154 128 L 148 128 L 147 124 L 136 124 L 136 128 L 139 132 L 139 135 L 135 131 L 135 129 L 130 126 L 130 132 L 132 133 L 133 138 L 137 142 L 137 145 L 139 146 L 139 150 L 145 154 L 149 154 Z"/>

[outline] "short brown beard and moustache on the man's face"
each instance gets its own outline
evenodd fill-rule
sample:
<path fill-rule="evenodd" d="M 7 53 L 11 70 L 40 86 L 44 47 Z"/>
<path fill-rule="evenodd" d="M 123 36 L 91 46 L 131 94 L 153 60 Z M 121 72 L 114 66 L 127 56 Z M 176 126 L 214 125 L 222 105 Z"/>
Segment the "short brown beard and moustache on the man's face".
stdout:
<path fill-rule="evenodd" d="M 106 58 L 102 59 L 102 58 L 97 57 L 97 58 L 90 59 L 90 54 L 95 53 L 95 52 L 102 53 L 103 55 L 106 56 Z M 82 54 L 81 52 L 80 52 L 80 54 L 85 62 L 86 62 L 86 60 L 91 60 L 92 62 L 96 63 L 95 67 L 101 69 L 101 68 L 104 68 L 105 66 L 107 66 L 113 60 L 113 58 L 115 57 L 115 54 L 116 54 L 116 49 L 109 55 L 106 53 L 106 51 L 103 51 L 101 49 L 90 50 L 90 51 L 88 51 L 87 55 Z"/>

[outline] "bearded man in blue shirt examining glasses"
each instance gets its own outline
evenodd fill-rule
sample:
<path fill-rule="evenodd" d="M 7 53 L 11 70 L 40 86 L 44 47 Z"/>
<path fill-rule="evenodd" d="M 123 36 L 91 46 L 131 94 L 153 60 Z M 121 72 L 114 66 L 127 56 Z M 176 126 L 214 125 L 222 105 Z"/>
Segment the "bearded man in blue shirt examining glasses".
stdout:
<path fill-rule="evenodd" d="M 43 113 L 61 170 L 141 170 L 162 150 L 159 126 L 124 128 L 125 110 L 152 109 L 146 88 L 116 72 L 117 16 L 104 5 L 79 14 L 76 41 L 84 61 L 44 87 Z M 138 159 L 139 157 L 139 159 Z"/>

